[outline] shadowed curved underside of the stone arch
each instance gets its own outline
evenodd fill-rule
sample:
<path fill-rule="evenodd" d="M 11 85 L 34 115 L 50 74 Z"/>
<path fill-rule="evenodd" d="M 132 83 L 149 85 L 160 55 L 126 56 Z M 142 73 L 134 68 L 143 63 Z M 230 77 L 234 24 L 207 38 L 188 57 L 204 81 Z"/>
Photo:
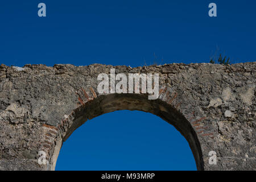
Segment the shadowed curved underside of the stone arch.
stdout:
<path fill-rule="evenodd" d="M 57 156 L 60 148 L 68 139 L 68 137 L 85 123 L 88 119 L 92 119 L 99 115 L 110 113 L 117 110 L 139 110 L 147 113 L 155 114 L 164 121 L 173 125 L 183 137 L 187 140 L 189 147 L 195 158 L 197 170 L 204 170 L 203 153 L 197 134 L 191 123 L 177 111 L 174 107 L 166 102 L 158 100 L 148 100 L 146 94 L 108 94 L 101 95 L 94 100 L 86 102 L 66 119 L 68 125 L 61 127 L 59 141 L 53 152 L 52 161 L 53 169 L 55 168 Z"/>

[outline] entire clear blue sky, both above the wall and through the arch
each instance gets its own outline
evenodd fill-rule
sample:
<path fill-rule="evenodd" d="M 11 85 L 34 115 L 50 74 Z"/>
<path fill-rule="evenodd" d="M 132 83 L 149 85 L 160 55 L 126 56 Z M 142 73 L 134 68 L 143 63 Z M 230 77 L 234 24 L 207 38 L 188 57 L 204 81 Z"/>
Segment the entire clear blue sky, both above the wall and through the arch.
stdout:
<path fill-rule="evenodd" d="M 38 17 L 40 2 L 47 6 L 45 18 Z M 217 4 L 214 18 L 208 16 L 211 2 Z M 255 7 L 252 0 L 2 1 L 0 63 L 208 63 L 216 47 L 233 63 L 255 61 Z M 76 130 L 56 169 L 196 166 L 187 142 L 171 125 L 148 113 L 118 111 Z"/>

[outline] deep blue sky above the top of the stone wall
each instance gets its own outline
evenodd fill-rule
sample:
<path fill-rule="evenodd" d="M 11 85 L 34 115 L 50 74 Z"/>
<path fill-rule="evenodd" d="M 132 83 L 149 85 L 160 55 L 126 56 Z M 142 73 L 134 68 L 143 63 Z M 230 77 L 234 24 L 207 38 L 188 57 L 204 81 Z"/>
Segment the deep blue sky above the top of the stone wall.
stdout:
<path fill-rule="evenodd" d="M 47 17 L 38 17 L 38 3 Z M 208 16 L 210 2 L 217 17 Z M 7 65 L 208 62 L 218 46 L 256 57 L 255 1 L 3 1 L 0 60 Z M 163 59 L 163 61 L 162 61 Z"/>

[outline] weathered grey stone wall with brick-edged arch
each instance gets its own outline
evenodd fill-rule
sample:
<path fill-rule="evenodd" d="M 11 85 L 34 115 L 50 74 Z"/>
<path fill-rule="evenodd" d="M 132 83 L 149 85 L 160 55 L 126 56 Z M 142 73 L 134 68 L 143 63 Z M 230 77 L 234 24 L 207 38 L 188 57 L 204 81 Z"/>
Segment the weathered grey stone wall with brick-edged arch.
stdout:
<path fill-rule="evenodd" d="M 159 73 L 158 100 L 99 94 L 99 73 Z M 0 170 L 55 168 L 61 144 L 87 119 L 129 109 L 153 113 L 187 139 L 197 169 L 255 170 L 256 63 L 0 67 Z M 47 154 L 38 164 L 39 151 Z M 209 151 L 217 164 L 210 165 Z"/>

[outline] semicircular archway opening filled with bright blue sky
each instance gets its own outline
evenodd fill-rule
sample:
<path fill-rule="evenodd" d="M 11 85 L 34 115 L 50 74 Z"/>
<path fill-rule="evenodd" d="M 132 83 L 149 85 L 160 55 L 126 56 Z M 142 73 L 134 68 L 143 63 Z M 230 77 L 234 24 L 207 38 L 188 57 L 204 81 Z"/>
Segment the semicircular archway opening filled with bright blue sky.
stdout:
<path fill-rule="evenodd" d="M 187 140 L 143 111 L 114 111 L 80 126 L 63 143 L 56 170 L 196 170 Z"/>

